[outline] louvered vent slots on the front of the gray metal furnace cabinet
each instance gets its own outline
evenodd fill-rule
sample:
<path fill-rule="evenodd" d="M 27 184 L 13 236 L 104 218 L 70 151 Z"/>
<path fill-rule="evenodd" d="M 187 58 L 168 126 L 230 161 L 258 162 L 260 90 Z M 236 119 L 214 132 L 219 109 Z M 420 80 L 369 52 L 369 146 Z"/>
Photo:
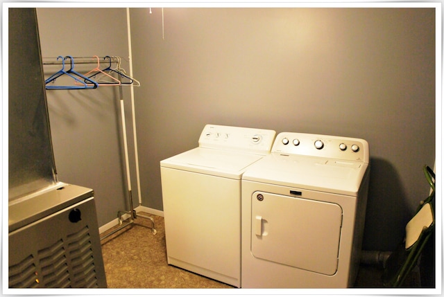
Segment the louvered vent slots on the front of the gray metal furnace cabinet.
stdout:
<path fill-rule="evenodd" d="M 11 265 L 9 287 L 99 287 L 88 226 Z"/>

